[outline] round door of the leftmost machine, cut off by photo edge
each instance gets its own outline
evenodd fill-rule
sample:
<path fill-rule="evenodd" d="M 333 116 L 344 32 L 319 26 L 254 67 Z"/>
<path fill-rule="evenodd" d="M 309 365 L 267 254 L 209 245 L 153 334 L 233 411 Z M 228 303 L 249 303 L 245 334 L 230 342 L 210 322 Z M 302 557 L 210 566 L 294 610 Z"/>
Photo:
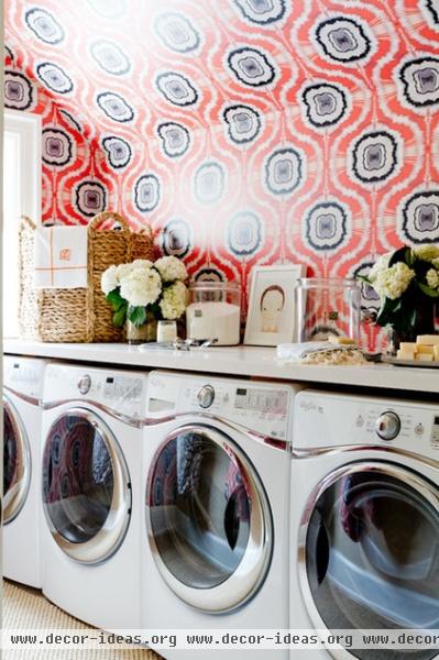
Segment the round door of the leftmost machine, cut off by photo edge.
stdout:
<path fill-rule="evenodd" d="M 3 395 L 3 524 L 21 512 L 31 484 L 31 449 L 21 417 Z"/>

